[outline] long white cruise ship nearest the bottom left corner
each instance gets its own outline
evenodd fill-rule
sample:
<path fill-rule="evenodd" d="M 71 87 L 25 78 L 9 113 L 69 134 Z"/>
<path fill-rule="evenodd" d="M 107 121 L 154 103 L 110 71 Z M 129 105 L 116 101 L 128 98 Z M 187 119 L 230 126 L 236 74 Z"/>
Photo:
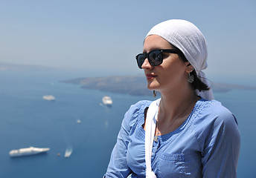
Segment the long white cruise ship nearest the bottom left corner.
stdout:
<path fill-rule="evenodd" d="M 10 156 L 15 157 L 15 156 L 30 156 L 34 154 L 42 154 L 47 151 L 49 151 L 50 148 L 35 148 L 35 147 L 30 147 L 30 148 L 20 148 L 18 150 L 12 150 L 9 152 Z"/>

